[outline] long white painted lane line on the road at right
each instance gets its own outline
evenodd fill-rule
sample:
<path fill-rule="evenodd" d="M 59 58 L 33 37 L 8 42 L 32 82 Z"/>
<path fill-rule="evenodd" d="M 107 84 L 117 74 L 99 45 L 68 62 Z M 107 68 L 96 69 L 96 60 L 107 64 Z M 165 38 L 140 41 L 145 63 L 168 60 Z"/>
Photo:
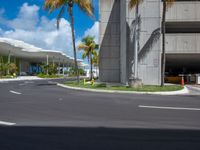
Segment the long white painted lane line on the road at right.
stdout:
<path fill-rule="evenodd" d="M 191 110 L 200 111 L 200 108 L 186 108 L 186 107 L 163 107 L 163 106 L 145 106 L 139 105 L 140 108 L 150 108 L 150 109 L 170 109 L 170 110 Z"/>

